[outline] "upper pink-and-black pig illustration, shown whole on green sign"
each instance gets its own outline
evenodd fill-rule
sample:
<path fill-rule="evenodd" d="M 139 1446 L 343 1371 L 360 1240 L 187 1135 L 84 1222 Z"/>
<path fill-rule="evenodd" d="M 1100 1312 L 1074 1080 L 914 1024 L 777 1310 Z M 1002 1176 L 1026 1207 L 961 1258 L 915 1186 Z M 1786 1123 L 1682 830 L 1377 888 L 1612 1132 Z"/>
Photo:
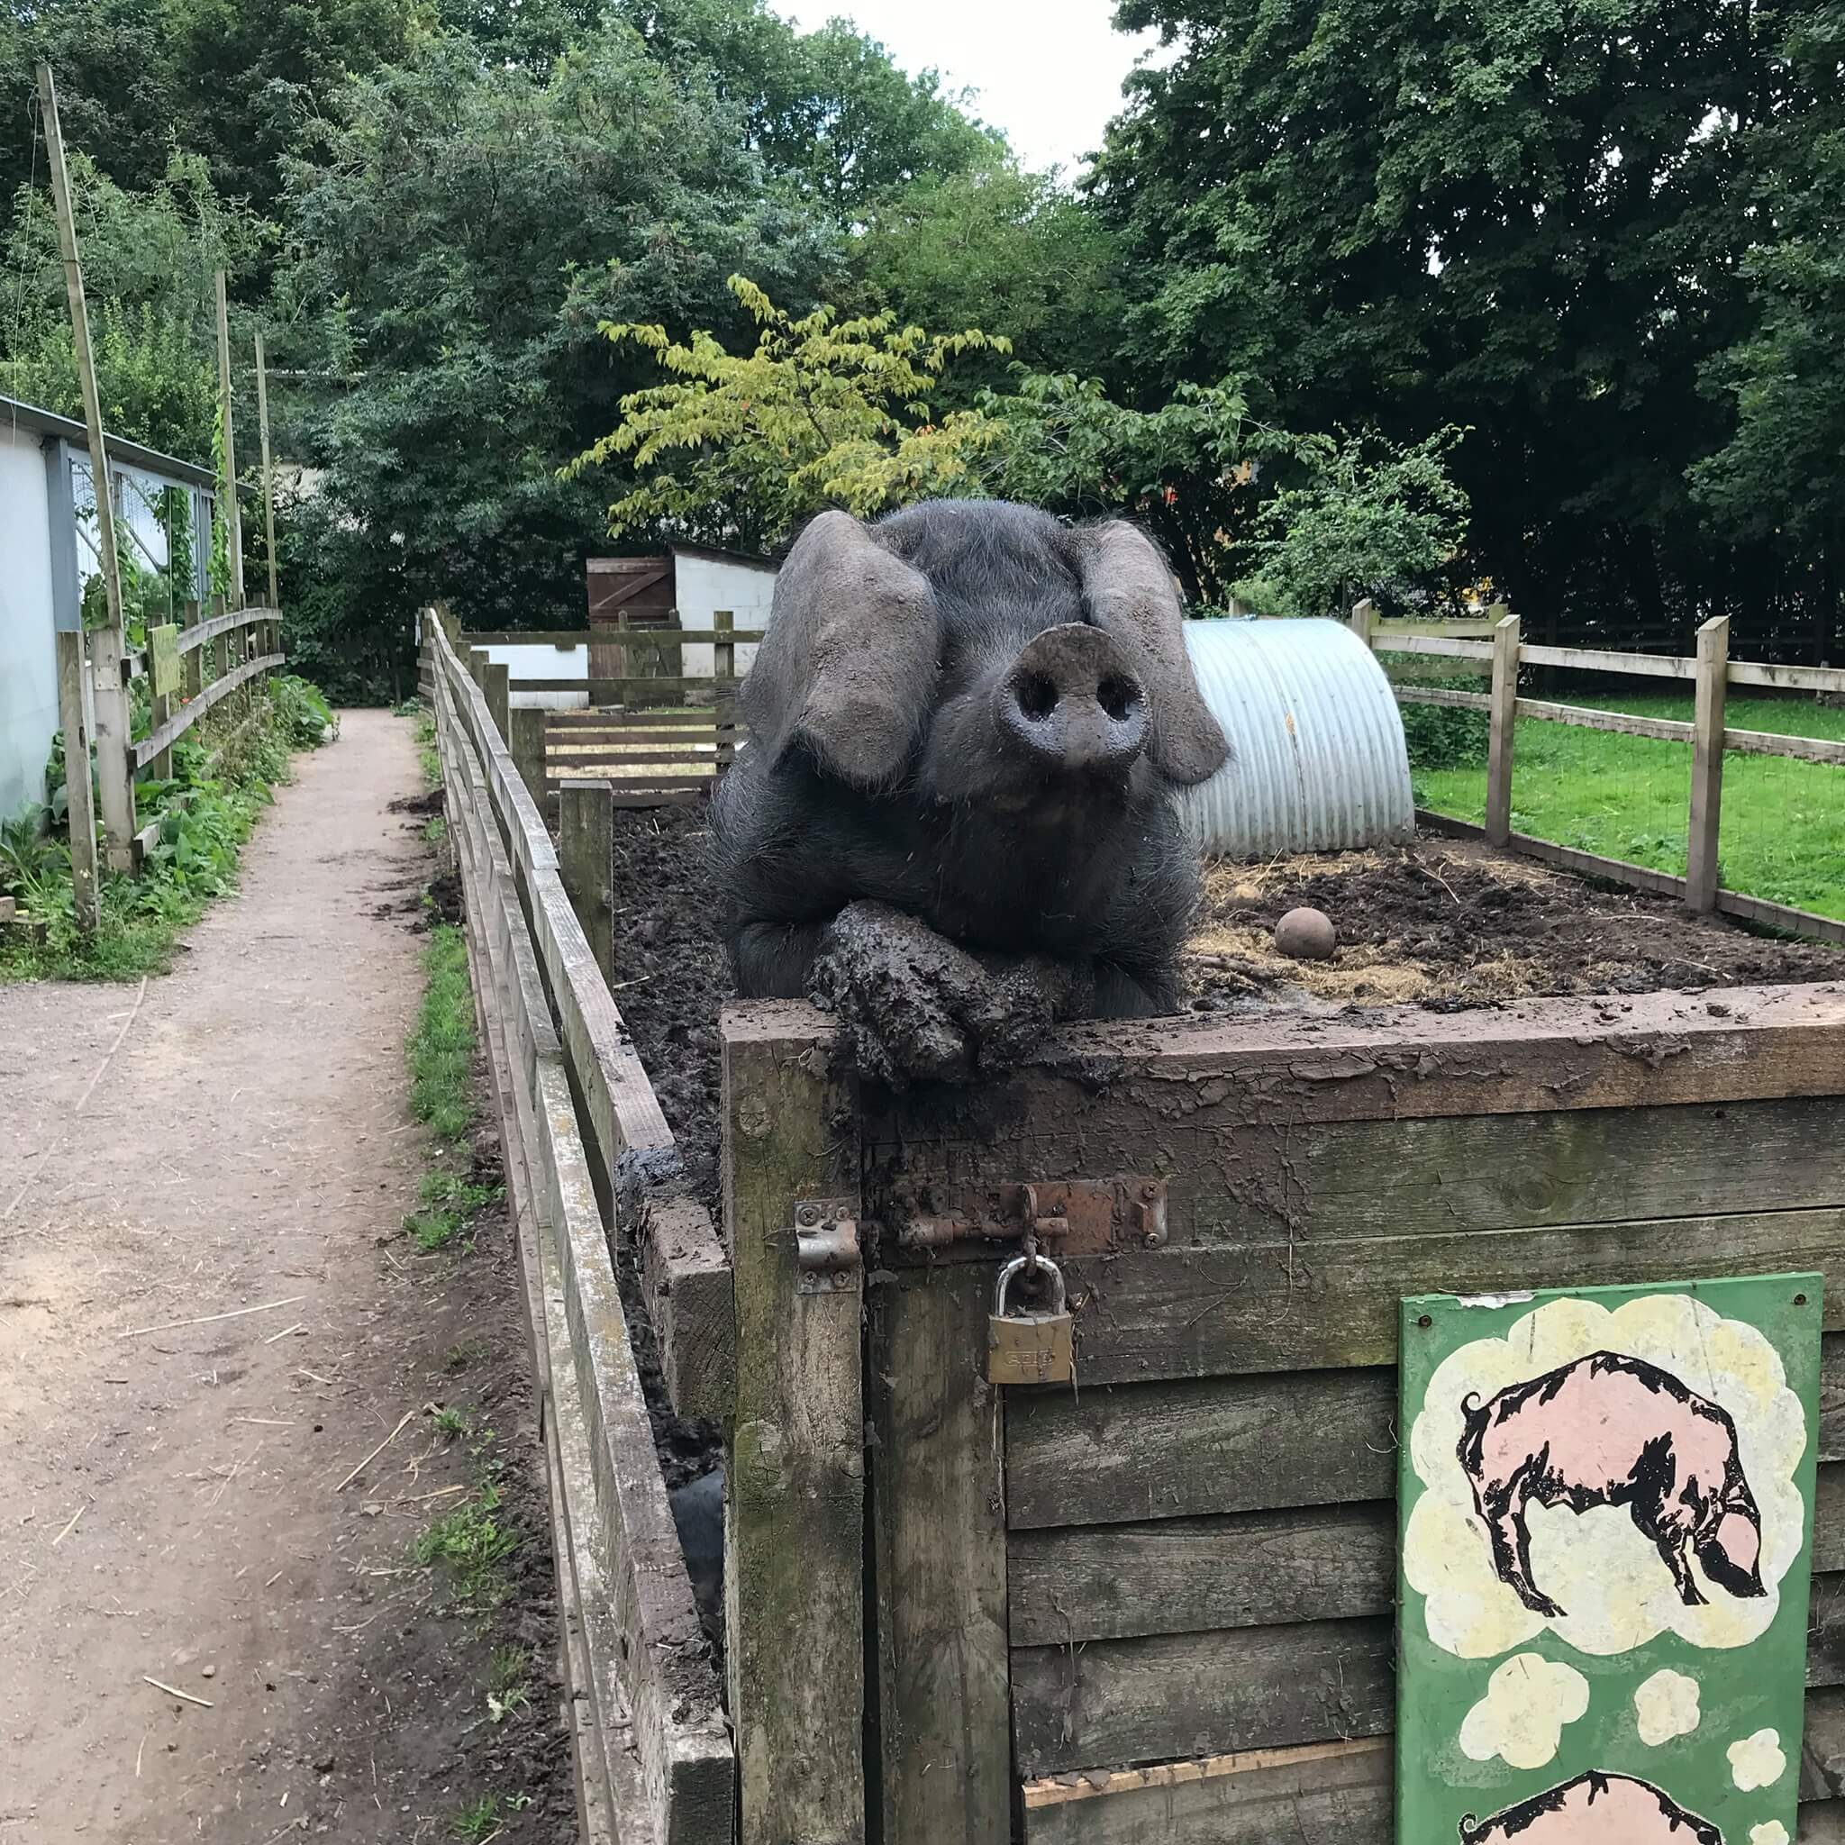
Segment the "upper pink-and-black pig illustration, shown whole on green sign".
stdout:
<path fill-rule="evenodd" d="M 1509 1384 L 1487 1402 L 1469 1395 L 1461 1413 L 1467 1434 L 1458 1454 L 1493 1542 L 1494 1572 L 1533 1613 L 1563 1614 L 1531 1581 L 1524 1517 L 1533 1504 L 1576 1513 L 1625 1506 L 1686 1607 L 1707 1600 L 1690 1555 L 1732 1596 L 1768 1594 L 1762 1515 L 1736 1456 L 1736 1424 L 1670 1371 L 1590 1352 Z"/>

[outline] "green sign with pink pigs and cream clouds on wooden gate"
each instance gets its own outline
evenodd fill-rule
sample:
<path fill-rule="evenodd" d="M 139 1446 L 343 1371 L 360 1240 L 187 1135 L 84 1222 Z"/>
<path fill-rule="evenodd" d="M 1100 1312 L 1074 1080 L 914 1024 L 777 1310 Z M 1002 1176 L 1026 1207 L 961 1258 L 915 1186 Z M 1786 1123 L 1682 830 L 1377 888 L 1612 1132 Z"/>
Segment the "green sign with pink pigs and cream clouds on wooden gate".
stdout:
<path fill-rule="evenodd" d="M 1402 1303 L 1399 1845 L 1791 1845 L 1819 1275 Z"/>

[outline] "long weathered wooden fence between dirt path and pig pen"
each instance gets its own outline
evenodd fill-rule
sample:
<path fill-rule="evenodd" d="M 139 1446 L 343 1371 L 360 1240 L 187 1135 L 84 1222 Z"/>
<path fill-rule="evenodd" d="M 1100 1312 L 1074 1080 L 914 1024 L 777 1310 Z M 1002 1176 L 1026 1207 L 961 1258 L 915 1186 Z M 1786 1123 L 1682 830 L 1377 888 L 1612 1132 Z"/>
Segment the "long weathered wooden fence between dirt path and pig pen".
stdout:
<path fill-rule="evenodd" d="M 585 1838 L 708 1845 L 731 1838 L 734 1753 L 611 1258 L 611 1232 L 638 1242 L 679 1157 L 609 993 L 607 946 L 598 956 L 579 915 L 592 895 L 607 904 L 609 865 L 581 876 L 574 900 L 500 727 L 506 668 L 483 688 L 470 664 L 485 677 L 485 661 L 463 664 L 439 620 L 428 648 L 539 1362 Z M 677 1260 L 708 1268 L 708 1214 L 688 1201 L 673 1212 Z"/>

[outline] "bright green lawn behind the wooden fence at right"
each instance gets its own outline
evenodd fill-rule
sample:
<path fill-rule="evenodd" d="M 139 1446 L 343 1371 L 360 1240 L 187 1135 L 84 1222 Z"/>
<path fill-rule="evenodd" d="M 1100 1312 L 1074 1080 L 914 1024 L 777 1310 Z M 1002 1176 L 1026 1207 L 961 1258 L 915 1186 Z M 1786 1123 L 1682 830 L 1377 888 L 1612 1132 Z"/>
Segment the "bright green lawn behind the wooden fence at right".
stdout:
<path fill-rule="evenodd" d="M 1690 694 L 1566 703 L 1638 718 L 1690 720 Z M 1808 699 L 1731 697 L 1732 731 L 1845 740 L 1845 710 Z M 1485 768 L 1415 769 L 1417 804 L 1456 819 L 1485 814 Z M 1513 738 L 1511 823 L 1518 832 L 1601 858 L 1684 875 L 1692 745 L 1520 718 Z M 1845 768 L 1729 755 L 1718 832 L 1723 884 L 1768 902 L 1845 919 Z"/>

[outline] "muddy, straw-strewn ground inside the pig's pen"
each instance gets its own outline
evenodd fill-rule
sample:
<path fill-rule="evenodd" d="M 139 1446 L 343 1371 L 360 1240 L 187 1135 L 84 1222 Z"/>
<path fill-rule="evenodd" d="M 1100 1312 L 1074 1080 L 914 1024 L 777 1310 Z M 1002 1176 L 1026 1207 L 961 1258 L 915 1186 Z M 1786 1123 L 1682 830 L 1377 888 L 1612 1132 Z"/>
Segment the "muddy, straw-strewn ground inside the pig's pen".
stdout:
<path fill-rule="evenodd" d="M 697 1194 L 718 1210 L 718 1007 L 731 970 L 718 935 L 703 808 L 618 810 L 616 1004 Z M 1282 913 L 1334 921 L 1330 961 L 1273 945 Z M 1681 904 L 1592 886 L 1467 839 L 1218 865 L 1184 956 L 1194 1011 L 1441 1011 L 1542 994 L 1651 993 L 1838 980 L 1845 952 L 1751 934 Z"/>

